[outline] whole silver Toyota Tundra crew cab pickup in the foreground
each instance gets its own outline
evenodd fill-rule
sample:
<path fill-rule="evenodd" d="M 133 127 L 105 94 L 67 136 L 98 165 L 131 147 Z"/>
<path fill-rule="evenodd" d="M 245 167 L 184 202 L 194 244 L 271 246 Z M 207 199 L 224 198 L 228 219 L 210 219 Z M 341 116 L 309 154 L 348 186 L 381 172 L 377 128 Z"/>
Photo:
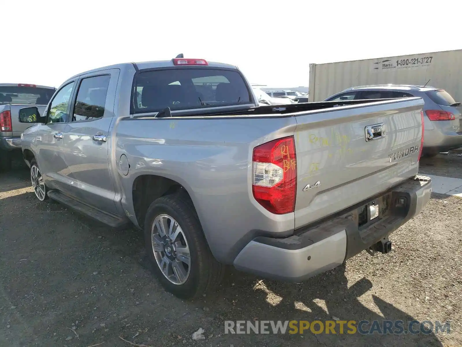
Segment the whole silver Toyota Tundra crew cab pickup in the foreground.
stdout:
<path fill-rule="evenodd" d="M 36 197 L 143 229 L 158 280 L 192 298 L 226 265 L 299 282 L 388 253 L 432 191 L 422 106 L 259 106 L 237 67 L 180 56 L 73 76 L 20 119 Z"/>

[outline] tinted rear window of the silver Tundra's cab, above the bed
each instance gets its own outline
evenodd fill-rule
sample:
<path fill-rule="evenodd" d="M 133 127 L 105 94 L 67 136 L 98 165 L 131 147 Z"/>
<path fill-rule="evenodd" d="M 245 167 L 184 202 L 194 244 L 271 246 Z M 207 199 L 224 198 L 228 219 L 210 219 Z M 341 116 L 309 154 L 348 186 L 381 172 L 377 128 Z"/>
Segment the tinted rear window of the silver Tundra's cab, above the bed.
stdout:
<path fill-rule="evenodd" d="M 249 90 L 237 71 L 174 68 L 140 72 L 135 77 L 134 112 L 243 105 Z"/>

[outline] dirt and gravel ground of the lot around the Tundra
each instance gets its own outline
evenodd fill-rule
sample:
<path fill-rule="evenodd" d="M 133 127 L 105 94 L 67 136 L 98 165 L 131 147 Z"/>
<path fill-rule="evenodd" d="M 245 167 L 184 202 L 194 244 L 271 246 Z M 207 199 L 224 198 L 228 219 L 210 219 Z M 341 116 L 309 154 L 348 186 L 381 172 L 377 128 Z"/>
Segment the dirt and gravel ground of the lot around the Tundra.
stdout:
<path fill-rule="evenodd" d="M 461 177 L 462 157 L 422 161 Z M 391 237 L 304 284 L 230 270 L 192 303 L 163 291 L 137 230 L 114 231 L 39 204 L 18 163 L 0 175 L 0 346 L 462 346 L 462 199 L 433 194 Z M 450 334 L 224 335 L 225 320 L 450 320 Z M 205 340 L 192 334 L 205 330 Z M 121 337 L 129 342 L 123 341 Z"/>

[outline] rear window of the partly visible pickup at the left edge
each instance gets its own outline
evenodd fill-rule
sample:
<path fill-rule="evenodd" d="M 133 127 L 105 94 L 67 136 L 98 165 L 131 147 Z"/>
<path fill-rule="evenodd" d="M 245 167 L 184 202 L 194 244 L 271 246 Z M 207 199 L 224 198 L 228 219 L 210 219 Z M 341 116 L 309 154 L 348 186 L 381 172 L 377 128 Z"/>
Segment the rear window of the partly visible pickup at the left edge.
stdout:
<path fill-rule="evenodd" d="M 47 105 L 54 93 L 48 88 L 0 86 L 0 105 Z"/>

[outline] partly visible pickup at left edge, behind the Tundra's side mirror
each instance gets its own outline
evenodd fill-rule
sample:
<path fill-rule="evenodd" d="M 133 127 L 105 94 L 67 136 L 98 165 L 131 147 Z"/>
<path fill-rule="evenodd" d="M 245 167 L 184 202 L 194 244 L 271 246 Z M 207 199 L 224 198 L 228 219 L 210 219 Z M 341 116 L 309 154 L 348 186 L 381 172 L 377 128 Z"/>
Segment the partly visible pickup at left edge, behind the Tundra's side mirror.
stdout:
<path fill-rule="evenodd" d="M 21 151 L 21 134 L 30 124 L 19 122 L 19 109 L 36 105 L 42 114 L 54 87 L 0 83 L 0 172 L 11 169 L 12 151 Z"/>

